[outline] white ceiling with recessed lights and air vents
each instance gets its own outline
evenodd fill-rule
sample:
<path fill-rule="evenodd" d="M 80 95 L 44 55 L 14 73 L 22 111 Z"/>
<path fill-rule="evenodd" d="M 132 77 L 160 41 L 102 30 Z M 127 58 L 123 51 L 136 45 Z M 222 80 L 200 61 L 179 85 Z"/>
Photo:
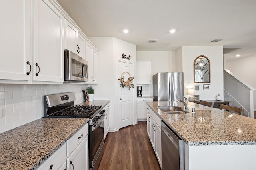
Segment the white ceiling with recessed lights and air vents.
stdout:
<path fill-rule="evenodd" d="M 116 37 L 137 51 L 223 45 L 227 60 L 256 55 L 256 0 L 58 0 L 88 37 Z M 129 29 L 129 33 L 122 32 Z M 176 29 L 175 33 L 169 33 Z M 148 43 L 149 39 L 158 39 Z M 212 43 L 213 39 L 223 39 Z"/>

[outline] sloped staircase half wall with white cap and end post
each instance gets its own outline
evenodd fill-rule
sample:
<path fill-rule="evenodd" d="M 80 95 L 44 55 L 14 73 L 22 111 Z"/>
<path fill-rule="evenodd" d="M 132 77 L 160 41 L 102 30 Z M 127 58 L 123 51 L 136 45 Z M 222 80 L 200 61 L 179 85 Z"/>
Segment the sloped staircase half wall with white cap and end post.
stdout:
<path fill-rule="evenodd" d="M 241 115 L 254 118 L 253 91 L 256 90 L 228 69 L 224 69 L 224 100 L 230 106 L 243 107 Z"/>

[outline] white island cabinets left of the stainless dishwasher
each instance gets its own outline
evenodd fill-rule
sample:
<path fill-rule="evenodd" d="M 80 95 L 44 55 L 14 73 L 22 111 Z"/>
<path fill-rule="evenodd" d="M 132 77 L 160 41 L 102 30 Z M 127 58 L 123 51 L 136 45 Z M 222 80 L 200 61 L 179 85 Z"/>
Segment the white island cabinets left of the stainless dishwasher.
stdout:
<path fill-rule="evenodd" d="M 147 108 L 147 133 L 162 168 L 161 119 L 149 107 Z"/>

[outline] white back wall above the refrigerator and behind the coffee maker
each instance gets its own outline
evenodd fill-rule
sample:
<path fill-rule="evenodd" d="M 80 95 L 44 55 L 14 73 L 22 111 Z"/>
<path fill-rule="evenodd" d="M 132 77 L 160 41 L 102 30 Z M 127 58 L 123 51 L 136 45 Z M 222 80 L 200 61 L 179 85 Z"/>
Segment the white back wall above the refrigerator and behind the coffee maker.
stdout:
<path fill-rule="evenodd" d="M 152 61 L 152 76 L 158 72 L 175 72 L 174 51 L 137 51 L 137 60 Z M 153 96 L 153 86 L 142 85 L 142 95 Z"/>

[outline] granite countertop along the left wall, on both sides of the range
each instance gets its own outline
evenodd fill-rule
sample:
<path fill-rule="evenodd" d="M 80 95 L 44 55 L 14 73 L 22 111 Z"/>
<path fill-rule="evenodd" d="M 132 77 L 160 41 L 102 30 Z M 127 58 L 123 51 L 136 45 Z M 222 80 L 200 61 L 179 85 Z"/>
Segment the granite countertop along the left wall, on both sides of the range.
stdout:
<path fill-rule="evenodd" d="M 94 100 L 78 105 L 101 105 Z M 0 169 L 34 170 L 70 139 L 88 118 L 41 118 L 0 134 Z"/>

